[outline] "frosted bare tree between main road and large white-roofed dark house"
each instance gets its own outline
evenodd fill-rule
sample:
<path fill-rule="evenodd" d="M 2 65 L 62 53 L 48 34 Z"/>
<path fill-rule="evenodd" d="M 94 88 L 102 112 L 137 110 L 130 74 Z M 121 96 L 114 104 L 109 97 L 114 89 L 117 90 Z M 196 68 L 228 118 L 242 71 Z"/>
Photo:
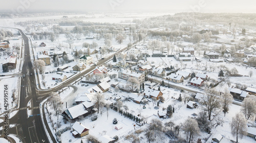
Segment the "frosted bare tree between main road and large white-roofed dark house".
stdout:
<path fill-rule="evenodd" d="M 55 110 L 55 115 L 57 115 L 59 108 L 61 107 L 61 98 L 55 92 L 50 93 L 50 97 L 48 98 L 48 103 L 52 109 Z"/>

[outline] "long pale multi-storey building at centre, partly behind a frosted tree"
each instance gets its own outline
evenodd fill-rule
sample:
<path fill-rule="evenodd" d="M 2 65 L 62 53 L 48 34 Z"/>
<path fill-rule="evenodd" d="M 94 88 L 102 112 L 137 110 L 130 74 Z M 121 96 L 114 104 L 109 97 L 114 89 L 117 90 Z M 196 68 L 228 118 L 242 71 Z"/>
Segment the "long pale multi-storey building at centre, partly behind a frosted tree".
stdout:
<path fill-rule="evenodd" d="M 145 75 L 138 73 L 138 72 L 133 72 L 130 70 L 123 70 L 121 69 L 118 71 L 118 77 L 122 78 L 124 80 L 128 80 L 130 77 L 136 78 L 140 83 L 145 81 Z"/>

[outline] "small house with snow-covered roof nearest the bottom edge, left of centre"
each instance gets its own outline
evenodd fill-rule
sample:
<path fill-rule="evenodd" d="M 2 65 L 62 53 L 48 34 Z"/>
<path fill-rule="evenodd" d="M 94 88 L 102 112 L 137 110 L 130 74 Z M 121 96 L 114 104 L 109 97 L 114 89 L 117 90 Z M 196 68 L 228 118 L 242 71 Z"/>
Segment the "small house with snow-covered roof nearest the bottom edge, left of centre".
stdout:
<path fill-rule="evenodd" d="M 72 135 L 74 137 L 83 137 L 89 134 L 89 129 L 87 129 L 84 125 L 79 122 L 75 122 L 72 126 L 73 132 Z"/>

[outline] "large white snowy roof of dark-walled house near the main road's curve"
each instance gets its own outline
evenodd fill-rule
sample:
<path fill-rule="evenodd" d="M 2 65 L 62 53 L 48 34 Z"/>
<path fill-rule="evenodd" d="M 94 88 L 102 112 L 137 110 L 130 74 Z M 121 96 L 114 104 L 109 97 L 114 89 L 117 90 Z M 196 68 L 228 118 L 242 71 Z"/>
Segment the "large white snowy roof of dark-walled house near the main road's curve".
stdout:
<path fill-rule="evenodd" d="M 66 110 L 67 115 L 70 119 L 75 119 L 78 116 L 84 115 L 88 111 L 84 108 L 83 104 L 78 104 Z"/>

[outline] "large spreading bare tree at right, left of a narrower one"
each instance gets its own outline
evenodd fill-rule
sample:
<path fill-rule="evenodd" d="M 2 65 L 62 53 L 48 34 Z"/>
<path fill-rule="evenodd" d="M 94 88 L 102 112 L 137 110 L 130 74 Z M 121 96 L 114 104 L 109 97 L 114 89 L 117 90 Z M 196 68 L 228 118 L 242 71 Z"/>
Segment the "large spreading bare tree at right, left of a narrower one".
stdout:
<path fill-rule="evenodd" d="M 205 91 L 205 96 L 203 96 L 200 102 L 203 110 L 207 111 L 208 120 L 210 120 L 212 111 L 220 106 L 219 93 L 215 91 L 215 89 L 207 89 Z"/>

